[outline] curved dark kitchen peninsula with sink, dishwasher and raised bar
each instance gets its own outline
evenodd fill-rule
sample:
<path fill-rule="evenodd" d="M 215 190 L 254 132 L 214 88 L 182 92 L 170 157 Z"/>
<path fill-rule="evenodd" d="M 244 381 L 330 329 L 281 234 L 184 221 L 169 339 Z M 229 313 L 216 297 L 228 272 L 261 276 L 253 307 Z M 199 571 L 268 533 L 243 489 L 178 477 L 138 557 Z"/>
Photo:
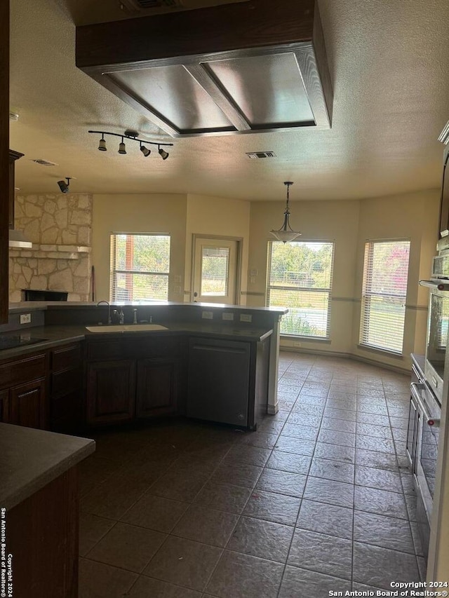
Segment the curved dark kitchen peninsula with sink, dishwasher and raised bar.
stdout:
<path fill-rule="evenodd" d="M 119 323 L 121 309 L 126 332 L 107 326 Z M 0 351 L 0 414 L 67 433 L 161 415 L 255 429 L 277 411 L 284 313 L 170 302 L 12 304 L 0 334 L 23 341 Z"/>

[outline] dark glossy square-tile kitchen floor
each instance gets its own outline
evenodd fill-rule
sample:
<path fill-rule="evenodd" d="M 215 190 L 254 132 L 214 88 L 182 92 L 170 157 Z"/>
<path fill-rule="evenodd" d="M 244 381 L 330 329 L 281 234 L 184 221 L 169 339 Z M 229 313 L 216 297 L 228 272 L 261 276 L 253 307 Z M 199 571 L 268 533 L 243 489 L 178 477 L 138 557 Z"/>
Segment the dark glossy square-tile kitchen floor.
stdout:
<path fill-rule="evenodd" d="M 254 433 L 105 431 L 81 466 L 80 598 L 320 598 L 420 580 L 408 376 L 281 353 Z"/>

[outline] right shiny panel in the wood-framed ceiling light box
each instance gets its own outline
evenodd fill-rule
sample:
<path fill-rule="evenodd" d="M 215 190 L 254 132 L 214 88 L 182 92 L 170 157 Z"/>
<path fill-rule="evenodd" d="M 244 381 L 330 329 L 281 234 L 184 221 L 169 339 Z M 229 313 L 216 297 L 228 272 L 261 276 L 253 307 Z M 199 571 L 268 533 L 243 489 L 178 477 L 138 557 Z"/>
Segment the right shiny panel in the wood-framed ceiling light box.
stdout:
<path fill-rule="evenodd" d="M 295 55 L 252 56 L 206 64 L 251 128 L 315 124 Z"/>

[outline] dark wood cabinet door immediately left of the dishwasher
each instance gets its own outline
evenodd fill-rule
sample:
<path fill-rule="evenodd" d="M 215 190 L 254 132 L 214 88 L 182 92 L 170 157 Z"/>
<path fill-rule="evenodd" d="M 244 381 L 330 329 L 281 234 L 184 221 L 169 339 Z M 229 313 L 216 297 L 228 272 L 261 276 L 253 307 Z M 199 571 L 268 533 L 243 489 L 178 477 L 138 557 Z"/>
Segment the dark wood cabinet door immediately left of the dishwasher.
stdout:
<path fill-rule="evenodd" d="M 138 361 L 136 414 L 149 417 L 177 410 L 178 360 L 152 358 Z"/>

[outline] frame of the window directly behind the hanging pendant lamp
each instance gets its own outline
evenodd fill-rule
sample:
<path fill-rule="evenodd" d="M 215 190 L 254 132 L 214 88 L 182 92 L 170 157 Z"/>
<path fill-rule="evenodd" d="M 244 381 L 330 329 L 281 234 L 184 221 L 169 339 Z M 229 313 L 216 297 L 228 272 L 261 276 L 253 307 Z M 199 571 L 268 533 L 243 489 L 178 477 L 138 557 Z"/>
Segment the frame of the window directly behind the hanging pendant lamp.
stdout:
<path fill-rule="evenodd" d="M 293 241 L 293 243 L 304 243 L 304 244 L 320 244 L 323 245 L 324 243 L 332 245 L 332 258 L 330 261 L 330 273 L 329 273 L 329 287 L 282 287 L 282 286 L 273 286 L 269 284 L 271 278 L 271 271 L 272 271 L 272 254 L 273 254 L 273 247 L 275 243 L 282 243 L 282 241 L 277 241 L 274 239 L 268 240 L 268 250 L 267 250 L 267 284 L 265 289 L 265 305 L 267 307 L 270 306 L 269 304 L 269 297 L 271 290 L 287 290 L 289 292 L 318 292 L 328 293 L 328 309 L 326 312 L 326 335 L 325 336 L 316 336 L 314 334 L 299 334 L 293 333 L 290 334 L 288 332 L 282 332 L 281 330 L 281 337 L 286 337 L 288 339 L 311 339 L 313 341 L 330 341 L 330 322 L 331 322 L 331 312 L 332 312 L 332 287 L 333 287 L 333 271 L 334 271 L 334 260 L 335 260 L 335 240 L 330 239 L 301 239 Z M 290 309 L 288 306 L 286 308 Z M 285 316 L 283 316 L 285 317 Z M 282 326 L 282 321 L 281 321 Z"/>

